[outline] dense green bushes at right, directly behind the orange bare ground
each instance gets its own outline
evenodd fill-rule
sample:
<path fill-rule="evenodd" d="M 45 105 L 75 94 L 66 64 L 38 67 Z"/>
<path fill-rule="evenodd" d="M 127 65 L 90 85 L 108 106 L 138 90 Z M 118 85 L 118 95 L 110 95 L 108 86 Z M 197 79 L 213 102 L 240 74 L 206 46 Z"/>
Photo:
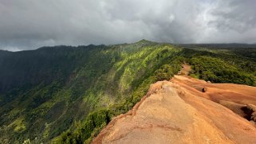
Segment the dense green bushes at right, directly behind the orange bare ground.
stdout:
<path fill-rule="evenodd" d="M 255 77 L 225 61 L 209 56 L 193 57 L 190 61 L 194 76 L 215 83 L 234 83 L 255 86 Z"/>

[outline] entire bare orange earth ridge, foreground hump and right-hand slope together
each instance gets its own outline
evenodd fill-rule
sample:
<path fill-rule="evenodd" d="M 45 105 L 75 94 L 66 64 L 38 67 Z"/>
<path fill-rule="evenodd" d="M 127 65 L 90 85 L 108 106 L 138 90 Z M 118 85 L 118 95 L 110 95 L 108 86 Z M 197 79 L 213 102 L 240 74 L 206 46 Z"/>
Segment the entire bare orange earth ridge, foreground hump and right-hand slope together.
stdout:
<path fill-rule="evenodd" d="M 152 84 L 93 143 L 256 143 L 256 88 L 186 75 Z"/>

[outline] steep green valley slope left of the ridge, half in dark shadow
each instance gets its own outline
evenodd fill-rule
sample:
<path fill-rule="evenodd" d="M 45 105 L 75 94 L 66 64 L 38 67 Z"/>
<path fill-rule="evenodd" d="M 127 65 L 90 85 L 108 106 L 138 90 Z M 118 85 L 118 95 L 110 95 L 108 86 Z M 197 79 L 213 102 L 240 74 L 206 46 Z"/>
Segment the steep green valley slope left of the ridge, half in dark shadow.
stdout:
<path fill-rule="evenodd" d="M 155 81 L 150 76 L 171 64 L 180 51 L 172 45 L 140 41 L 7 53 L 0 57 L 0 139 L 49 141 L 89 112 L 129 98 L 125 107 L 121 104 L 116 110 L 126 111 Z M 171 67 L 174 72 L 179 70 L 179 65 L 175 67 Z"/>

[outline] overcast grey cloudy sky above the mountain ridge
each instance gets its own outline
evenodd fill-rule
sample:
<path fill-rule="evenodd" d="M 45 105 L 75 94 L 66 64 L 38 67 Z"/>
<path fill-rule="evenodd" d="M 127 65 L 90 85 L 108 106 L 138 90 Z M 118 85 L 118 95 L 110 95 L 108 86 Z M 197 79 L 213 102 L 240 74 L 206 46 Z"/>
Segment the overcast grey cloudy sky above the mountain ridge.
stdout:
<path fill-rule="evenodd" d="M 256 0 L 0 0 L 0 49 L 256 43 Z"/>

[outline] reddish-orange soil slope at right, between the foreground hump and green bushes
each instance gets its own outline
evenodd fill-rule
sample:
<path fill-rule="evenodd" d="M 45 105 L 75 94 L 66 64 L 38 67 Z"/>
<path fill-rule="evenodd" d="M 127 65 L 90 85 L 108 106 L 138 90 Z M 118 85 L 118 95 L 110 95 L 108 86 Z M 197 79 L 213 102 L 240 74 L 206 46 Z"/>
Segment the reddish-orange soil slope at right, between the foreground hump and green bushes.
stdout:
<path fill-rule="evenodd" d="M 255 87 L 241 84 L 211 84 L 190 76 L 174 76 L 171 81 L 191 94 L 219 103 L 242 117 L 245 116 L 243 107 L 247 104 L 256 106 Z"/>

